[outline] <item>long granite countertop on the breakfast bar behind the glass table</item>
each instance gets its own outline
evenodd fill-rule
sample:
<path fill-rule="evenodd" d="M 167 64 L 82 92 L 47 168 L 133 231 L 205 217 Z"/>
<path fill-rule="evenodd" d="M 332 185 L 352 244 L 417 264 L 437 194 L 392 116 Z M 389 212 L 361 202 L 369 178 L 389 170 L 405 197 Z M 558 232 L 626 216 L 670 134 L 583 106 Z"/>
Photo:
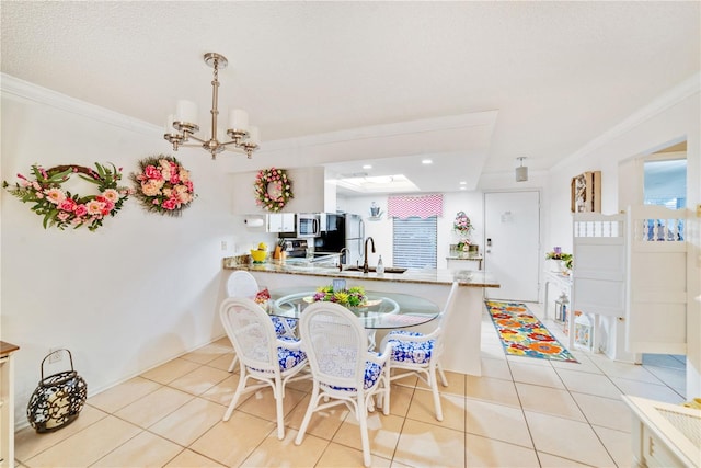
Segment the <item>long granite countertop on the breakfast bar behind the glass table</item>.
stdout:
<path fill-rule="evenodd" d="M 225 270 L 244 270 L 249 272 L 262 273 L 283 273 L 292 275 L 310 275 L 326 276 L 335 278 L 357 278 L 370 281 L 384 281 L 395 283 L 427 283 L 427 284 L 451 284 L 458 281 L 460 286 L 471 287 L 499 287 L 498 282 L 492 274 L 483 271 L 449 271 L 449 270 L 428 270 L 428 269 L 407 269 L 404 273 L 363 273 L 361 271 L 343 271 L 340 272 L 337 266 L 318 265 L 313 263 L 294 264 L 271 261 L 266 263 L 239 263 L 235 258 L 229 256 L 223 259 Z"/>

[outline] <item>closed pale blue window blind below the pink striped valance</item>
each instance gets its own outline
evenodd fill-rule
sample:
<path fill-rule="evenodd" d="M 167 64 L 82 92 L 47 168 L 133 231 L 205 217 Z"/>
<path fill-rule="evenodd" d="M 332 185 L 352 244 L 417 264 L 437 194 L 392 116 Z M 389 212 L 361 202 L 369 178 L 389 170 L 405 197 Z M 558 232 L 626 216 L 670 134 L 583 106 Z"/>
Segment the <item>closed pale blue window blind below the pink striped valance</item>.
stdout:
<path fill-rule="evenodd" d="M 394 266 L 406 269 L 435 269 L 438 244 L 438 221 L 429 218 L 393 218 Z"/>

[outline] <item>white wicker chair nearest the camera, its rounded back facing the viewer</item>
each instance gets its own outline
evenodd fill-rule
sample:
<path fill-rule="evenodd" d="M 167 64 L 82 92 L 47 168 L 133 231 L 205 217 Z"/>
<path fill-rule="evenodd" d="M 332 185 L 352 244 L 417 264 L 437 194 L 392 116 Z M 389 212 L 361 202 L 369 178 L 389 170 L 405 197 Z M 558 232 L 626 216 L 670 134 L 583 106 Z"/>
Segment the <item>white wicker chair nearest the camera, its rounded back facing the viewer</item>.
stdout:
<path fill-rule="evenodd" d="M 368 351 L 358 318 L 333 303 L 307 307 L 299 319 L 299 334 L 314 384 L 295 444 L 301 444 L 314 412 L 346 404 L 360 423 L 363 460 L 370 466 L 367 415 L 375 409 L 374 396 L 380 396 L 384 414 L 390 410 L 389 345 L 382 354 Z"/>

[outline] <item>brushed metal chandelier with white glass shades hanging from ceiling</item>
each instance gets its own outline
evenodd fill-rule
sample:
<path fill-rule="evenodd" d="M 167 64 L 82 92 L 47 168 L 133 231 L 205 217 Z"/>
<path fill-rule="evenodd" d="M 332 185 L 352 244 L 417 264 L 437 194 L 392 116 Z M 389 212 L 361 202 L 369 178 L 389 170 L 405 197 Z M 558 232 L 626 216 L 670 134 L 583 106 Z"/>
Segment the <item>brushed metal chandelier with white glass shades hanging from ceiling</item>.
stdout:
<path fill-rule="evenodd" d="M 175 109 L 175 114 L 168 116 L 165 123 L 165 134 L 163 138 L 173 144 L 173 151 L 182 147 L 202 147 L 211 153 L 211 159 L 217 158 L 217 153 L 229 150 L 239 150 L 248 155 L 249 159 L 253 151 L 258 149 L 258 128 L 249 126 L 249 114 L 240 109 L 234 109 L 229 114 L 229 128 L 225 132 L 217 126 L 219 110 L 217 109 L 219 91 L 219 69 L 226 68 L 229 61 L 227 57 L 210 52 L 205 54 L 205 64 L 214 68 L 214 79 L 211 81 L 211 132 L 210 138 L 204 139 L 195 134 L 199 132 L 197 125 L 197 105 L 192 101 L 180 100 Z M 229 141 L 219 141 L 218 133 L 226 133 Z M 226 139 L 222 135 L 222 138 Z M 197 142 L 188 142 L 191 140 Z"/>

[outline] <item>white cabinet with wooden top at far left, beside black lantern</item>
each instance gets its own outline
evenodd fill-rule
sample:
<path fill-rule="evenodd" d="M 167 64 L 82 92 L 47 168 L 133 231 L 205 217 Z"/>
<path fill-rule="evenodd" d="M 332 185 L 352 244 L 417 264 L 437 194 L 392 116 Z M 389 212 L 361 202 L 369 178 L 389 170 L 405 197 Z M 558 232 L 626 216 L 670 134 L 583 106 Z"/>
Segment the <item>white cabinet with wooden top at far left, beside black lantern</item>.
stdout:
<path fill-rule="evenodd" d="M 14 466 L 14 381 L 12 353 L 20 347 L 0 341 L 0 467 Z"/>

